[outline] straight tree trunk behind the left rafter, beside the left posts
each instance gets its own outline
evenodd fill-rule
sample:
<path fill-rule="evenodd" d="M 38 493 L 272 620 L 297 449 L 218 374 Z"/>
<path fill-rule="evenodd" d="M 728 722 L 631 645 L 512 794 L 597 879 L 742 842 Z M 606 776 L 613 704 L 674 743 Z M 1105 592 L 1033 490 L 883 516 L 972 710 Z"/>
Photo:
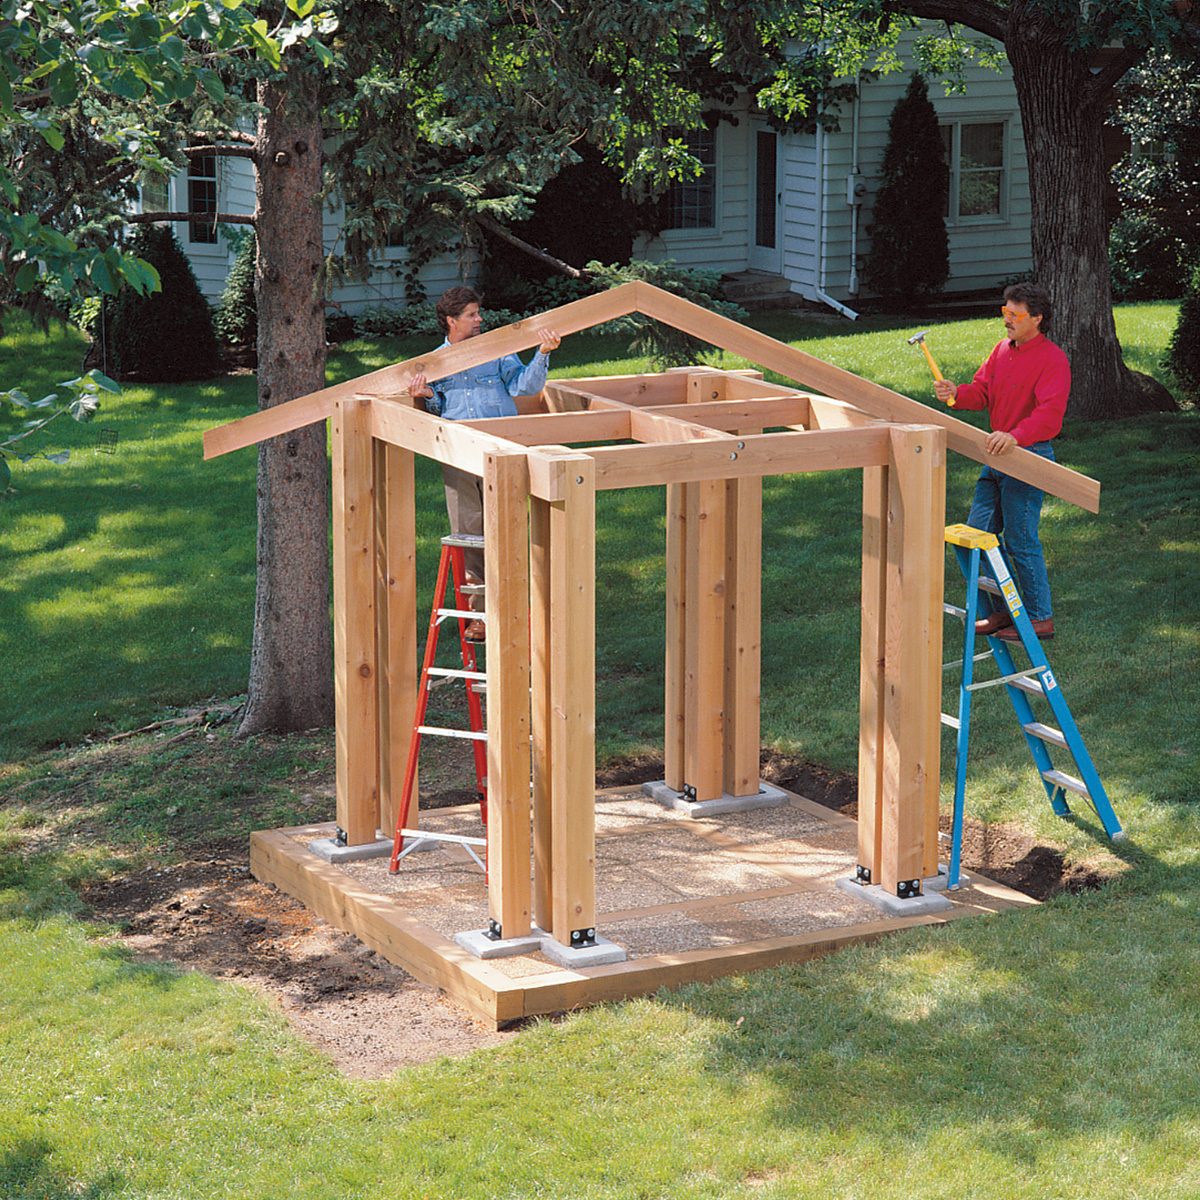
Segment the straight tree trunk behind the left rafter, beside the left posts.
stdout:
<path fill-rule="evenodd" d="M 325 385 L 320 113 L 293 67 L 260 83 L 256 227 L 258 404 Z M 239 734 L 330 725 L 329 462 L 325 422 L 258 448 L 258 582 L 250 688 Z"/>

